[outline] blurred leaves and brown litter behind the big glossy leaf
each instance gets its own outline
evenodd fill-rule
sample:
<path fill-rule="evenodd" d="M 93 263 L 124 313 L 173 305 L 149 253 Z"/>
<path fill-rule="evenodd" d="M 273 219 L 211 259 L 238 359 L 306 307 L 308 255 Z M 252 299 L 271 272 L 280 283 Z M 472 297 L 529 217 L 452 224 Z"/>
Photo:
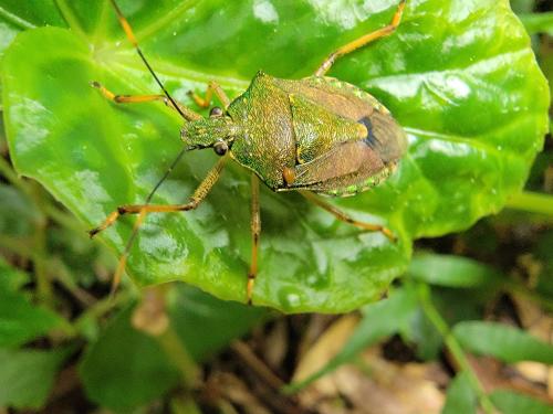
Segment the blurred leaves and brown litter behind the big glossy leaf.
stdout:
<path fill-rule="evenodd" d="M 551 3 L 511 3 L 551 82 Z M 184 284 L 111 300 L 114 255 L 15 174 L 3 137 L 0 155 L 0 413 L 553 412 L 551 136 L 523 197 L 418 241 L 388 298 L 343 316 Z"/>

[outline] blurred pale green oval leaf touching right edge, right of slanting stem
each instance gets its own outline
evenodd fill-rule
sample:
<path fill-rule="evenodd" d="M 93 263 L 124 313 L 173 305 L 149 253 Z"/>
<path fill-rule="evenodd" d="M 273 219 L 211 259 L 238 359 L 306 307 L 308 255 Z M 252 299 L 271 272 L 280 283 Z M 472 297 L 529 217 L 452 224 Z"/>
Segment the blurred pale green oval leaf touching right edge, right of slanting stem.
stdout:
<path fill-rule="evenodd" d="M 461 346 L 472 352 L 504 362 L 538 361 L 553 363 L 553 346 L 531 335 L 500 323 L 470 321 L 453 327 Z"/>

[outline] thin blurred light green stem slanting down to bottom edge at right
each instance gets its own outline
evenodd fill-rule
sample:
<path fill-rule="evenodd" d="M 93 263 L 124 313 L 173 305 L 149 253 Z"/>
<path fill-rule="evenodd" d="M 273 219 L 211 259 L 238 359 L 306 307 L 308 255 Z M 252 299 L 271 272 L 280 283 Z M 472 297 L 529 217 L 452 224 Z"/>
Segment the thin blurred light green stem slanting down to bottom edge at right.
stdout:
<path fill-rule="evenodd" d="M 431 299 L 430 299 L 430 290 L 427 285 L 419 284 L 418 285 L 418 297 L 420 301 L 420 306 L 422 307 L 422 310 L 425 315 L 427 316 L 428 320 L 435 326 L 435 328 L 438 330 L 438 332 L 444 338 L 444 342 L 446 343 L 446 347 L 448 348 L 449 352 L 451 352 L 451 355 L 453 357 L 456 363 L 460 368 L 462 372 L 467 373 L 467 378 L 469 379 L 469 382 L 474 390 L 474 392 L 478 395 L 478 399 L 480 401 L 480 405 L 482 406 L 482 410 L 487 414 L 493 414 L 495 413 L 495 408 L 493 406 L 493 403 L 491 400 L 488 397 L 486 394 L 482 384 L 480 383 L 480 380 L 478 379 L 477 374 L 472 370 L 472 367 L 470 365 L 470 362 L 465 354 L 465 351 L 462 350 L 460 343 L 457 341 L 455 336 L 451 333 L 451 330 L 449 329 L 449 326 L 447 322 L 444 320 L 441 317 L 440 312 L 436 307 L 434 306 Z"/>

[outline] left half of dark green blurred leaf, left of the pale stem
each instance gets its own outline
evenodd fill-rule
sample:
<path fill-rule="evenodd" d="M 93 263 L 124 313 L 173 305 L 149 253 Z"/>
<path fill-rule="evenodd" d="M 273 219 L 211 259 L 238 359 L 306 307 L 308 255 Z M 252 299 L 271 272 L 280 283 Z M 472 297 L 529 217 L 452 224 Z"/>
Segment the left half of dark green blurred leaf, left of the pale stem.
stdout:
<path fill-rule="evenodd" d="M 128 308 L 112 321 L 79 368 L 87 396 L 112 410 L 148 403 L 178 382 L 159 343 L 131 326 L 131 312 Z"/>

